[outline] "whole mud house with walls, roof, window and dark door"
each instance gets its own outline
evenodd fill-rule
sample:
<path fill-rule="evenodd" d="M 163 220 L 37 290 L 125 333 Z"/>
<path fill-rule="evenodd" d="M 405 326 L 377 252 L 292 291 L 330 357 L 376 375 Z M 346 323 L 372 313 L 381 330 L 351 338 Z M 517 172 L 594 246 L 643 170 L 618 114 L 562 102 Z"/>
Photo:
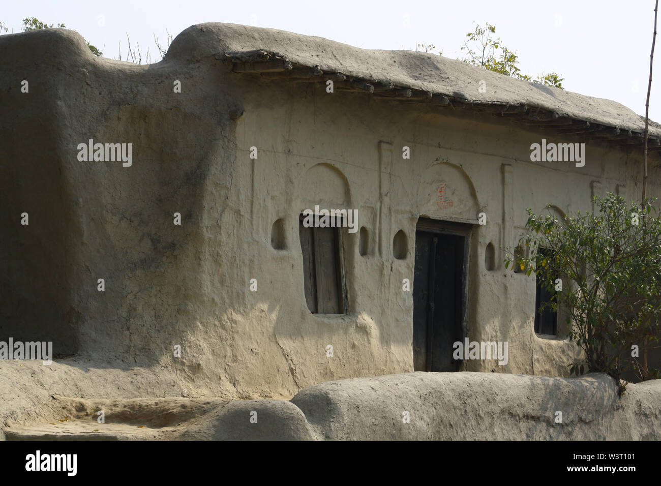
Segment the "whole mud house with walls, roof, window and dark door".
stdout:
<path fill-rule="evenodd" d="M 0 40 L 0 335 L 56 358 L 235 397 L 566 376 L 563 319 L 502 249 L 526 208 L 641 196 L 629 108 L 440 56 L 234 24 L 184 30 L 153 65 L 62 29 Z M 660 144 L 652 124 L 656 196 Z"/>

